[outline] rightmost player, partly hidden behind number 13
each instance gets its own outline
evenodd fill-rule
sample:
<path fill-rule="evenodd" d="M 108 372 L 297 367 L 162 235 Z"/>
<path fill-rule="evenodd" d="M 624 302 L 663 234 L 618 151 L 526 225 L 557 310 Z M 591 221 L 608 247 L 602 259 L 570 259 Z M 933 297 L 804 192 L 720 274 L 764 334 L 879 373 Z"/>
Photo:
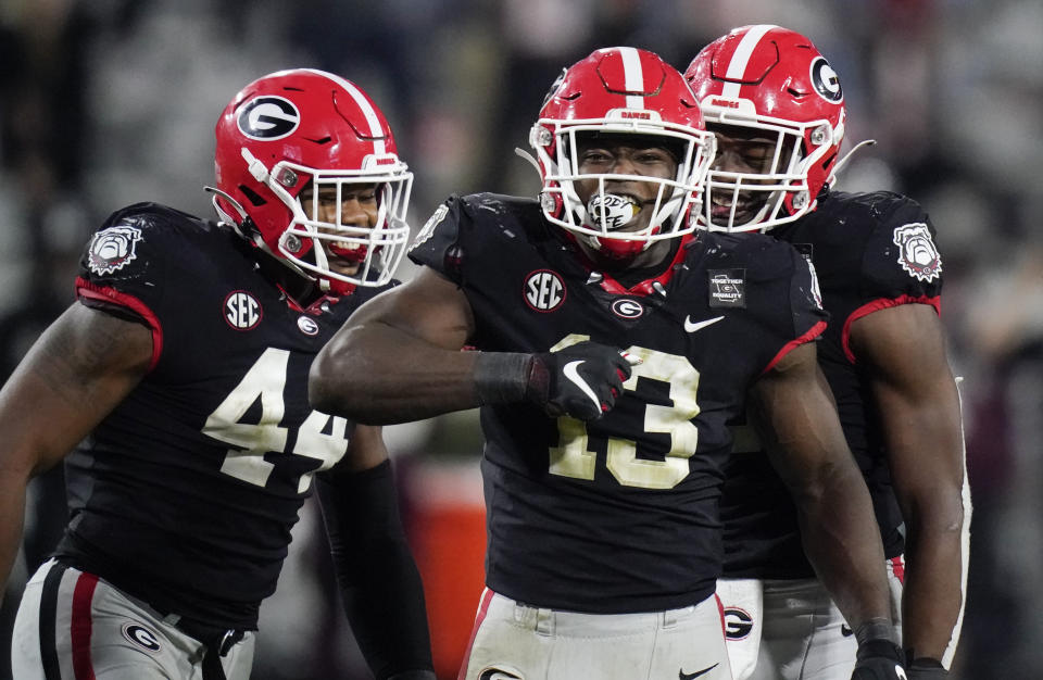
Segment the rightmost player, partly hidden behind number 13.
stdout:
<path fill-rule="evenodd" d="M 686 76 L 717 135 L 701 222 L 770 229 L 818 273 L 830 313 L 819 363 L 874 500 L 907 672 L 943 678 L 960 627 L 970 506 L 934 227 L 904 196 L 830 189 L 842 164 L 844 92 L 806 37 L 737 28 Z M 759 640 L 755 678 L 846 678 L 852 621 L 815 579 L 796 508 L 759 450 L 746 440 L 726 464 L 718 593 L 736 677 L 753 671 Z"/>

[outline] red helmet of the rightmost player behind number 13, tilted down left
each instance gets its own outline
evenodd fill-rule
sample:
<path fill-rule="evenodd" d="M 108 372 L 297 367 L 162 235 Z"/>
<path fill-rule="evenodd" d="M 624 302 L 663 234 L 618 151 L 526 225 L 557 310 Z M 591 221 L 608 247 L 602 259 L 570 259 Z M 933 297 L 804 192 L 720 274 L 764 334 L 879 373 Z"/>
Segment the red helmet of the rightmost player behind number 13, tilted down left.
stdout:
<path fill-rule="evenodd" d="M 840 79 L 812 41 L 779 26 L 743 26 L 703 48 L 684 77 L 711 130 L 739 126 L 776 140 L 764 173 L 711 169 L 700 223 L 752 231 L 814 210 L 835 177 L 846 111 Z M 737 206 L 751 197 L 761 210 L 734 224 Z M 731 207 L 727 221 L 711 219 L 715 204 Z"/>

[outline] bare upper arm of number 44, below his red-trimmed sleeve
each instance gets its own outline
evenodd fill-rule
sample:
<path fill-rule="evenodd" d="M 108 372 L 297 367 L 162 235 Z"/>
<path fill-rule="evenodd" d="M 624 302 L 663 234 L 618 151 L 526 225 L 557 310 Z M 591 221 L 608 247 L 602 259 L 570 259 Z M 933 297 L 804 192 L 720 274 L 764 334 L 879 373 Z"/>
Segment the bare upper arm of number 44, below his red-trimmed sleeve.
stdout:
<path fill-rule="evenodd" d="M 5 463 L 35 471 L 53 465 L 138 385 L 151 361 L 146 326 L 73 304 L 0 392 Z"/>

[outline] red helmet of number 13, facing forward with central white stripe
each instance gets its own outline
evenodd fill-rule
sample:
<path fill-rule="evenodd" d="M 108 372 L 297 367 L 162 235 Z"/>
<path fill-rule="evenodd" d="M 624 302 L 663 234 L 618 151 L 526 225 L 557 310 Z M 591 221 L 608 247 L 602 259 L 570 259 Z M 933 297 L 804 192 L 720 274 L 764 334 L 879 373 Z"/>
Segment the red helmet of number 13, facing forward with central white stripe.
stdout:
<path fill-rule="evenodd" d="M 642 181 L 659 187 L 651 221 L 641 230 L 620 229 L 641 206 L 605 192 L 606 180 L 632 176 L 579 173 L 577 136 L 595 133 L 659 138 L 665 147 L 677 149 L 675 177 L 642 176 Z M 596 50 L 566 68 L 529 134 L 543 180 L 544 216 L 615 259 L 632 257 L 653 241 L 694 230 L 692 214 L 699 212 L 714 143 L 681 74 L 657 54 L 629 47 Z M 587 179 L 598 181 L 589 205 L 575 186 Z"/>

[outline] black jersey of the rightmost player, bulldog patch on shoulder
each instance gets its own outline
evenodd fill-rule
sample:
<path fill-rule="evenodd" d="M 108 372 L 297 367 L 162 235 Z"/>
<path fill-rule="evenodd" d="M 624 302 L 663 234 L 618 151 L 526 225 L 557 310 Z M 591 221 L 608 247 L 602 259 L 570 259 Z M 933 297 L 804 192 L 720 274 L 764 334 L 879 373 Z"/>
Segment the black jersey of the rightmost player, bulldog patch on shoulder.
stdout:
<path fill-rule="evenodd" d="M 852 322 L 877 310 L 921 303 L 939 308 L 942 262 L 927 213 L 891 193 L 830 192 L 818 209 L 771 235 L 792 243 L 818 274 L 829 327 L 819 364 L 837 398 L 840 421 L 866 478 L 884 553 L 902 554 L 902 514 L 888 473 L 880 415 L 868 376 L 849 348 Z M 738 440 L 738 438 L 737 438 Z M 808 578 L 796 511 L 756 444 L 728 459 L 721 500 L 727 576 Z"/>

